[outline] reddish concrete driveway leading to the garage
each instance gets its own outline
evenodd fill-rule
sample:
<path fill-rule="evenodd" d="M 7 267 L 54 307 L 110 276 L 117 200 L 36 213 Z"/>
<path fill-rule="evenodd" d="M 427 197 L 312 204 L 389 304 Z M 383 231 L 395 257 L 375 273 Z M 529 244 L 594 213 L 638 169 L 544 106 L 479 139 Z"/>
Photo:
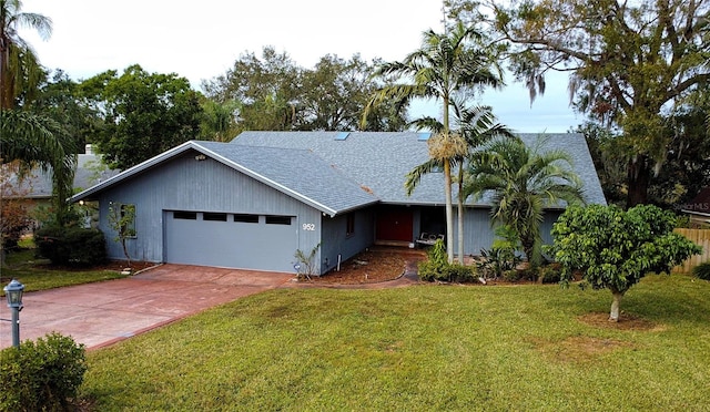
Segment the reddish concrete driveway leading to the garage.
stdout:
<path fill-rule="evenodd" d="M 20 340 L 57 331 L 87 349 L 101 348 L 291 279 L 290 274 L 163 265 L 125 279 L 28 292 Z M 0 318 L 11 318 L 4 301 Z M 1 349 L 12 346 L 12 334 L 11 322 L 0 323 Z"/>

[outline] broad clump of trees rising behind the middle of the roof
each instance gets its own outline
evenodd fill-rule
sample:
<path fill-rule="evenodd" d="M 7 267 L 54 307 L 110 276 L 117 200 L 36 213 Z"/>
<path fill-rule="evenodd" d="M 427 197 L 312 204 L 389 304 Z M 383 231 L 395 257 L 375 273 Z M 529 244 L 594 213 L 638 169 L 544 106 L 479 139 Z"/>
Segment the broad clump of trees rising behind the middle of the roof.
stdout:
<path fill-rule="evenodd" d="M 355 54 L 349 60 L 327 54 L 313 69 L 296 65 L 288 54 L 264 48 L 262 56 L 245 53 L 224 75 L 202 86 L 209 99 L 237 102 L 236 131 L 357 130 L 363 109 L 378 84 L 373 65 Z M 398 131 L 406 107 L 385 102 L 369 113 L 367 130 Z"/>

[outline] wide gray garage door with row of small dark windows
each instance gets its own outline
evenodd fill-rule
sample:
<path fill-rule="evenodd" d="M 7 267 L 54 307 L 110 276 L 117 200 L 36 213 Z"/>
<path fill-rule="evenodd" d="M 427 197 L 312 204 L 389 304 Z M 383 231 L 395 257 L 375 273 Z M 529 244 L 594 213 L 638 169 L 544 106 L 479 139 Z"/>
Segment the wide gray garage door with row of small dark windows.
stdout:
<path fill-rule="evenodd" d="M 293 216 L 165 212 L 165 261 L 292 272 Z"/>

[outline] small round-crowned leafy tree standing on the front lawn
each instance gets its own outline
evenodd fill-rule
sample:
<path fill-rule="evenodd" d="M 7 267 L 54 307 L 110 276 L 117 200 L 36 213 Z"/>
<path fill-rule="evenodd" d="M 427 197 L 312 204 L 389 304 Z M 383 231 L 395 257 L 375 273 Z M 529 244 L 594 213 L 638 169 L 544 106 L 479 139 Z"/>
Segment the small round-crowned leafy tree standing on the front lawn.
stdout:
<path fill-rule="evenodd" d="M 651 205 L 628 210 L 617 206 L 569 207 L 552 226 L 555 259 L 561 281 L 581 270 L 594 289 L 613 295 L 610 321 L 619 320 L 623 295 L 648 272 L 667 272 L 702 249 L 673 233 L 676 216 Z"/>

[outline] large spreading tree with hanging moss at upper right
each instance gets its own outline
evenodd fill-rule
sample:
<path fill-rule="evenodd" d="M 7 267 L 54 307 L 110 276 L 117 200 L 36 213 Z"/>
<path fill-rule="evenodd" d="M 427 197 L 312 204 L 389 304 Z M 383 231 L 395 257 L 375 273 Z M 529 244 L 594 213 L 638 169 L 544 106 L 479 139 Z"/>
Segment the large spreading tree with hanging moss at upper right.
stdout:
<path fill-rule="evenodd" d="M 477 1 L 452 1 L 476 10 Z M 569 73 L 577 106 L 620 128 L 627 206 L 646 203 L 673 137 L 663 126 L 665 111 L 710 80 L 710 0 L 516 0 L 490 7 L 491 29 L 511 45 L 511 69 L 531 99 L 544 93 L 548 72 Z"/>

